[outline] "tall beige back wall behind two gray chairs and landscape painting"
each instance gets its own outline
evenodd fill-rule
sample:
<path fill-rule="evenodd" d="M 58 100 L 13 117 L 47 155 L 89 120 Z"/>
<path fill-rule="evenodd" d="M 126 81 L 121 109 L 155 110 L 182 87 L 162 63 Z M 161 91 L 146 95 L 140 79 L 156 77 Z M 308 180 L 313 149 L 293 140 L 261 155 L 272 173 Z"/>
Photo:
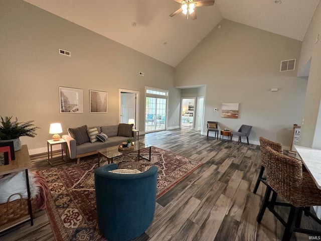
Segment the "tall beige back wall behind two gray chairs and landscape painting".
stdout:
<path fill-rule="evenodd" d="M 263 136 L 288 147 L 293 124 L 301 122 L 306 80 L 279 67 L 299 59 L 301 42 L 229 20 L 219 25 L 176 67 L 175 86 L 206 85 L 204 123 L 251 125 L 251 143 Z M 222 118 L 222 103 L 239 103 L 239 117 Z"/>

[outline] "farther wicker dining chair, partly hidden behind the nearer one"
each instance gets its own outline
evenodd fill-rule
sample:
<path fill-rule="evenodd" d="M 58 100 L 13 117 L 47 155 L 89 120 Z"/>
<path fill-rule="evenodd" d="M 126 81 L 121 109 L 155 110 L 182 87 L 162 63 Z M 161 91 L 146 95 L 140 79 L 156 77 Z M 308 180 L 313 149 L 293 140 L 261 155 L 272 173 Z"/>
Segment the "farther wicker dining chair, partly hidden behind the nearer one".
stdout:
<path fill-rule="evenodd" d="M 260 137 L 260 147 L 261 147 L 261 169 L 260 169 L 260 173 L 259 176 L 257 177 L 257 181 L 253 190 L 253 193 L 255 194 L 260 182 L 262 182 L 263 184 L 266 185 L 266 178 L 263 177 L 263 173 L 264 173 L 264 169 L 265 169 L 265 165 L 266 165 L 266 155 L 264 155 L 264 147 L 270 147 L 272 148 L 274 151 L 279 152 L 279 153 L 283 153 L 283 146 L 281 143 L 277 143 L 277 142 L 273 142 L 270 141 L 268 139 L 265 139 L 264 137 Z M 263 150 L 262 150 L 263 149 Z"/>

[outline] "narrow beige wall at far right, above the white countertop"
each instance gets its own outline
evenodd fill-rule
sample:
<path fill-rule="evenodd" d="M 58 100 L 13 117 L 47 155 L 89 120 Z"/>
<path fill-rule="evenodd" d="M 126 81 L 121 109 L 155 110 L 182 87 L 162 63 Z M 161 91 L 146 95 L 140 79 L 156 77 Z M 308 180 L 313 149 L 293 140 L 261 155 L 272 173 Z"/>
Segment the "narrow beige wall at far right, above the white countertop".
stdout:
<path fill-rule="evenodd" d="M 317 43 L 316 37 L 320 34 Z M 318 5 L 314 16 L 304 36 L 301 49 L 299 72 L 310 61 L 308 82 L 304 101 L 303 120 L 301 125 L 299 145 L 321 149 L 321 4 Z"/>

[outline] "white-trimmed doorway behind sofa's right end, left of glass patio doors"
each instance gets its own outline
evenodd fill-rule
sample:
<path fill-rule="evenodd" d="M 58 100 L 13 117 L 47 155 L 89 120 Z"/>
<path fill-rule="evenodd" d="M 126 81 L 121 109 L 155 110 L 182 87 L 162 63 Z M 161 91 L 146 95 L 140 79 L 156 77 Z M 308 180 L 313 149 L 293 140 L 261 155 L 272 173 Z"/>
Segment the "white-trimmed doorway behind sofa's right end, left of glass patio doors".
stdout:
<path fill-rule="evenodd" d="M 139 130 L 138 124 L 139 91 L 119 89 L 119 123 L 128 123 L 134 119 L 134 129 Z"/>

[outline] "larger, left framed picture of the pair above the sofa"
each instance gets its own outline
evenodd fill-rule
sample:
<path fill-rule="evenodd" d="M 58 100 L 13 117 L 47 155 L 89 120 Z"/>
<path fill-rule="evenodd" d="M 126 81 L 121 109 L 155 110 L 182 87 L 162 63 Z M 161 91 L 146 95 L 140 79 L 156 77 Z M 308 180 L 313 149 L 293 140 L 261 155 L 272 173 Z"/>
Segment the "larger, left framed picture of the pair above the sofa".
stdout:
<path fill-rule="evenodd" d="M 59 87 L 60 113 L 83 113 L 82 89 Z"/>

